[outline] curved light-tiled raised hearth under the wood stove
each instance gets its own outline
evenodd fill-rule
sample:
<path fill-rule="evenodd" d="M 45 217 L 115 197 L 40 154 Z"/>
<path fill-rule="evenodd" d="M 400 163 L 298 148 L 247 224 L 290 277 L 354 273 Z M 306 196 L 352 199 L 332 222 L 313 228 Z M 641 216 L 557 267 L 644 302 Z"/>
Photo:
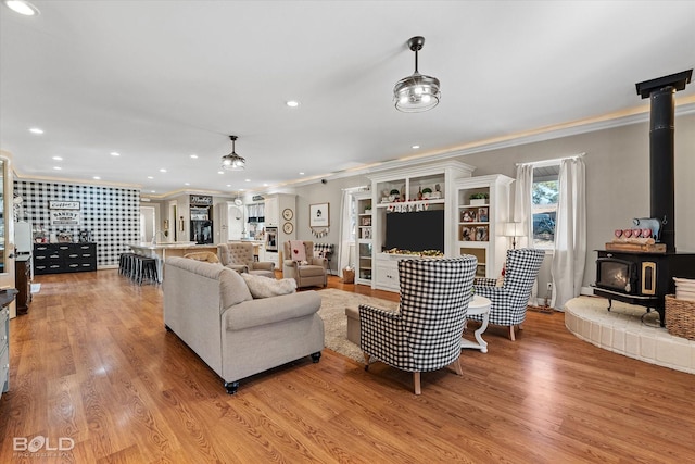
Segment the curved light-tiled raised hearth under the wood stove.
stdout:
<path fill-rule="evenodd" d="M 565 305 L 565 326 L 582 340 L 647 363 L 695 374 L 695 341 L 659 327 L 658 314 L 599 297 L 579 297 Z"/>

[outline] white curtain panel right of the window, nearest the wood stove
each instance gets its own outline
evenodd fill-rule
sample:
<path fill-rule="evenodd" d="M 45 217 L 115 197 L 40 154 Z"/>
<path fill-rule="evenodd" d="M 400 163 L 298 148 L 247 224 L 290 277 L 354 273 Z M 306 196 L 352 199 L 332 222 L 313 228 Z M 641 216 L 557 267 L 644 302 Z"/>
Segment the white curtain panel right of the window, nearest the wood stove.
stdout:
<path fill-rule="evenodd" d="M 581 156 L 560 161 L 558 192 L 551 305 L 563 310 L 581 292 L 586 261 L 585 166 Z"/>

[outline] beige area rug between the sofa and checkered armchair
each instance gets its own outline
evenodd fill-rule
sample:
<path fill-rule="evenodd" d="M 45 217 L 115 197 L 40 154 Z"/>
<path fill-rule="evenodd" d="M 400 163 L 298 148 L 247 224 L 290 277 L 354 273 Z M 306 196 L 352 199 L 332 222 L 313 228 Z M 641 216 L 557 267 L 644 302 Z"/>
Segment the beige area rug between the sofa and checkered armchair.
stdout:
<path fill-rule="evenodd" d="M 399 303 L 334 288 L 319 290 L 318 293 L 321 297 L 321 309 L 318 310 L 318 314 L 324 319 L 326 348 L 357 362 L 363 362 L 364 356 L 359 347 L 348 340 L 348 316 L 345 316 L 345 306 L 369 304 L 376 308 L 383 308 L 384 310 L 395 310 Z"/>

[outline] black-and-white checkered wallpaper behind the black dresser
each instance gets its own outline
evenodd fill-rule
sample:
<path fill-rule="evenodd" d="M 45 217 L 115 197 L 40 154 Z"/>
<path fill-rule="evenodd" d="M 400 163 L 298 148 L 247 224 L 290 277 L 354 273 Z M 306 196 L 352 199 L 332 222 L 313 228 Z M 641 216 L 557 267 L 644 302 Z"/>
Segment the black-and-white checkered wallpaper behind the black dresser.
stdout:
<path fill-rule="evenodd" d="M 50 234 L 91 231 L 97 243 L 97 267 L 118 265 L 126 243 L 140 241 L 140 190 L 91 185 L 15 180 L 14 195 L 23 198 L 23 221 Z M 49 201 L 79 201 L 79 224 L 52 226 Z"/>

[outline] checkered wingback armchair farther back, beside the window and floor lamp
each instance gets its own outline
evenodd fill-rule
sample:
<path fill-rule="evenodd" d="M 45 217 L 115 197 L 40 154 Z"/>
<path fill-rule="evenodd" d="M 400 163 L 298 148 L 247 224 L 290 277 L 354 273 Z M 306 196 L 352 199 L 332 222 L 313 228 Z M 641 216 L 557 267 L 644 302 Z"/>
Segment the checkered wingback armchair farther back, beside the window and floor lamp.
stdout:
<path fill-rule="evenodd" d="M 518 326 L 519 330 L 523 328 L 521 324 L 526 319 L 526 308 L 544 258 L 545 251 L 543 250 L 532 248 L 507 250 L 503 286 L 473 286 L 476 294 L 492 301 L 490 324 L 508 326 L 511 341 L 515 340 L 515 326 Z M 469 318 L 482 321 L 482 316 L 470 316 Z"/>

